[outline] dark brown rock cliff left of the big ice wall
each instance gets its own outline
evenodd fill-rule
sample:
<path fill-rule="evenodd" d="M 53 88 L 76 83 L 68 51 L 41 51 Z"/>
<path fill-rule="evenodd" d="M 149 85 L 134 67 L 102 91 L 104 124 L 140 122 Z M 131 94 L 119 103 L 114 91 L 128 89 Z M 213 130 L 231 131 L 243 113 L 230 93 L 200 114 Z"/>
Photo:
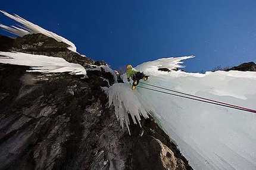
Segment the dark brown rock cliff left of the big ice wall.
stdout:
<path fill-rule="evenodd" d="M 42 34 L 1 36 L 0 49 L 94 63 Z M 114 83 L 112 74 L 26 70 L 0 65 L 0 169 L 192 169 L 153 118 L 142 119 L 142 128 L 132 124 L 131 136 L 120 128 L 101 91 Z"/>

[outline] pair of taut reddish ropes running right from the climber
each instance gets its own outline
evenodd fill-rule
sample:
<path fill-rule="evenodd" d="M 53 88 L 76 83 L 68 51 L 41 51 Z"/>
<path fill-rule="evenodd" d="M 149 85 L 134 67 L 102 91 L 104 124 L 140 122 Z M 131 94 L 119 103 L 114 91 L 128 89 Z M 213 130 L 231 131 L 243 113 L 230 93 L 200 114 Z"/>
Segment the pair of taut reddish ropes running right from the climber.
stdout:
<path fill-rule="evenodd" d="M 207 99 L 207 98 L 205 98 L 205 97 L 200 97 L 200 96 L 195 96 L 195 95 L 189 95 L 188 93 L 178 92 L 178 91 L 176 91 L 176 90 L 171 90 L 171 89 L 167 89 L 167 88 L 164 88 L 164 87 L 155 86 L 155 85 L 153 85 L 153 84 L 148 84 L 148 83 L 143 83 L 143 82 L 140 82 L 140 83 L 146 84 L 146 85 L 152 86 L 152 87 L 157 87 L 157 88 L 159 88 L 159 89 L 168 90 L 168 91 L 170 91 L 170 92 L 180 93 L 180 94 L 182 94 L 182 95 L 187 95 L 187 96 L 191 96 L 191 97 L 196 97 L 196 98 L 198 98 L 198 99 L 204 99 L 204 100 L 208 100 L 208 101 L 211 101 L 211 102 L 220 103 L 220 104 L 222 104 L 222 105 L 232 106 L 232 108 L 239 108 L 239 109 L 243 109 L 243 110 L 248 111 L 248 112 L 256 113 L 256 110 L 254 110 L 254 109 L 244 108 L 244 107 L 241 107 L 241 106 L 232 105 L 232 104 L 229 104 L 229 103 L 224 103 L 224 102 L 220 102 L 220 101 L 217 101 L 217 100 Z"/>

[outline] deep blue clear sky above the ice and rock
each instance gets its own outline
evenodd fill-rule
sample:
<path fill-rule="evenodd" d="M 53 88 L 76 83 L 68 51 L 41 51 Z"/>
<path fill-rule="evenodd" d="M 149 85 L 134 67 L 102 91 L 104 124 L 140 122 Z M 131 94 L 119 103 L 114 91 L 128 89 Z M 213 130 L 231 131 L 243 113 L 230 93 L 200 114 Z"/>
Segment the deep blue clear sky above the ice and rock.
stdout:
<path fill-rule="evenodd" d="M 1 10 L 71 40 L 112 68 L 195 55 L 186 71 L 256 62 L 255 0 L 3 1 Z M 0 14 L 0 23 L 14 22 Z M 9 35 L 0 30 L 0 34 Z"/>

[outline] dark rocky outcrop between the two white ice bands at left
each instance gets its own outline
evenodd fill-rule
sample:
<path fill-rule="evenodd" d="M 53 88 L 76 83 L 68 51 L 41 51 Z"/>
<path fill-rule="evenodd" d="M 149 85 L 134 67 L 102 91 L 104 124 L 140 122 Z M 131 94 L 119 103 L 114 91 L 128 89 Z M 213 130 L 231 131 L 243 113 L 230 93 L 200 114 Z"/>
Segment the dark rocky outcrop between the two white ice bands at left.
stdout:
<path fill-rule="evenodd" d="M 27 34 L 23 37 L 11 39 L 10 37 L 0 37 L 1 51 L 16 51 L 31 53 L 35 55 L 46 55 L 64 58 L 68 62 L 80 64 L 85 68 L 89 68 L 94 64 L 92 59 L 86 56 L 79 55 L 79 53 L 67 49 L 69 46 L 63 42 L 45 36 L 44 34 Z"/>

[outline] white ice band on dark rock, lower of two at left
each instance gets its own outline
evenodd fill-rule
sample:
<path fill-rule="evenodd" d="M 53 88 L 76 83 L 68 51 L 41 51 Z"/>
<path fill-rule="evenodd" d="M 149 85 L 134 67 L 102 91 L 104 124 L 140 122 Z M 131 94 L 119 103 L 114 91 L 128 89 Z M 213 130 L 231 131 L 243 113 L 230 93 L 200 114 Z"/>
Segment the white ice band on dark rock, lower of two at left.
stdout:
<path fill-rule="evenodd" d="M 29 72 L 64 73 L 86 75 L 86 70 L 80 64 L 65 61 L 63 58 L 33 55 L 21 52 L 0 52 L 0 63 L 24 65 L 31 67 Z"/>

